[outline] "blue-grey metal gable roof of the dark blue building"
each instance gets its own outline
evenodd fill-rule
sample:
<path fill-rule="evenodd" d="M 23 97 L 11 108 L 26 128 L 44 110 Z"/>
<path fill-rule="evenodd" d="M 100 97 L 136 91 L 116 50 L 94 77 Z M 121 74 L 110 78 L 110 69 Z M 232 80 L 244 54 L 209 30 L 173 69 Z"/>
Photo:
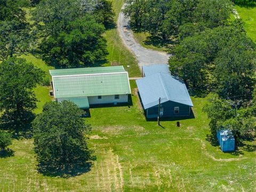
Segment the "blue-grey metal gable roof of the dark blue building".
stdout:
<path fill-rule="evenodd" d="M 144 109 L 173 101 L 193 107 L 185 83 L 169 73 L 155 73 L 136 81 Z"/>

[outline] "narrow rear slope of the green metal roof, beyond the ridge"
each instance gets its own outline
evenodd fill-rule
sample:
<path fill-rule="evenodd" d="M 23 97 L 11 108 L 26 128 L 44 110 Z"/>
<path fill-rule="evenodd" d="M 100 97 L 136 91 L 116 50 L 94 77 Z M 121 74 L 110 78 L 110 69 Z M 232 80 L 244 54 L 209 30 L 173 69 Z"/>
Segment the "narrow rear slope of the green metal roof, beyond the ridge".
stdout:
<path fill-rule="evenodd" d="M 125 72 L 124 67 L 123 66 L 110 66 L 110 67 L 87 67 L 87 68 L 50 70 L 51 76 L 118 73 L 118 72 Z"/>

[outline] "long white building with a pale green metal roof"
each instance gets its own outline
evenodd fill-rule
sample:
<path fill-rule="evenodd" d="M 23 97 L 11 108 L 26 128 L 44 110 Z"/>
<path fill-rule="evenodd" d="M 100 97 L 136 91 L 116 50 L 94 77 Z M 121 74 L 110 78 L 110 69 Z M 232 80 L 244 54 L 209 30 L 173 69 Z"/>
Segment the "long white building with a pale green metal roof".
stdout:
<path fill-rule="evenodd" d="M 50 70 L 54 98 L 81 109 L 91 105 L 128 102 L 131 88 L 123 66 Z"/>

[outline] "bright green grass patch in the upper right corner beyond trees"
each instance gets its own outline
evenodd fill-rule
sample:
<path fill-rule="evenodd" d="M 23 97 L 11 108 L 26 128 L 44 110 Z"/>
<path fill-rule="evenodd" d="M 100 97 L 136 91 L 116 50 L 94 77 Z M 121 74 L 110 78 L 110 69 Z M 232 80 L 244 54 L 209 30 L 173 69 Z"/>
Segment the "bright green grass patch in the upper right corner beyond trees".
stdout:
<path fill-rule="evenodd" d="M 244 22 L 247 35 L 256 42 L 256 2 L 241 0 L 235 5 L 239 16 Z"/>

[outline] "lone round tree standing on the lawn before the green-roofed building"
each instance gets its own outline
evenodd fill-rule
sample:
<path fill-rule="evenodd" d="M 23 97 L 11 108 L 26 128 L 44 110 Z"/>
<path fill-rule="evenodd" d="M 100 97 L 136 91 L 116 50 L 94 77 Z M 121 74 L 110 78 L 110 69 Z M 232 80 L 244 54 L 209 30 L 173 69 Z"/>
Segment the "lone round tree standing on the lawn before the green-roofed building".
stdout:
<path fill-rule="evenodd" d="M 91 127 L 81 118 L 83 113 L 70 101 L 48 102 L 35 118 L 35 153 L 42 171 L 66 173 L 92 158 L 86 137 Z"/>

